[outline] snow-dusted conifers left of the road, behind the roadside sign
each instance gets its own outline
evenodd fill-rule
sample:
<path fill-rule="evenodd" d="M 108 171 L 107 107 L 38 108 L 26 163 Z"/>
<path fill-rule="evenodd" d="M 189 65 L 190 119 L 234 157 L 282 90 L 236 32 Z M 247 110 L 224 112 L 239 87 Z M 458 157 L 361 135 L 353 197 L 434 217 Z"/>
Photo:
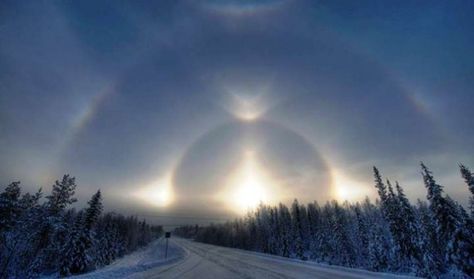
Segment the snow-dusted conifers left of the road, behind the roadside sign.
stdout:
<path fill-rule="evenodd" d="M 85 209 L 70 209 L 75 189 L 75 178 L 64 175 L 43 202 L 41 189 L 22 194 L 20 182 L 0 193 L 0 278 L 91 271 L 162 234 L 134 216 L 102 214 L 100 190 Z"/>

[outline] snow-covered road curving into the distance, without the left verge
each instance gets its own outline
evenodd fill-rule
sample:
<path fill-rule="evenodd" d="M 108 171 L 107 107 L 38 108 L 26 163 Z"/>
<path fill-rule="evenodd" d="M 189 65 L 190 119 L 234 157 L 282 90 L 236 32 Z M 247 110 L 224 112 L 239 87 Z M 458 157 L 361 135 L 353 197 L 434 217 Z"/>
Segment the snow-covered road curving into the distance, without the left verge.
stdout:
<path fill-rule="evenodd" d="M 185 239 L 174 238 L 170 244 L 184 249 L 180 261 L 128 278 L 410 278 L 295 261 Z"/>

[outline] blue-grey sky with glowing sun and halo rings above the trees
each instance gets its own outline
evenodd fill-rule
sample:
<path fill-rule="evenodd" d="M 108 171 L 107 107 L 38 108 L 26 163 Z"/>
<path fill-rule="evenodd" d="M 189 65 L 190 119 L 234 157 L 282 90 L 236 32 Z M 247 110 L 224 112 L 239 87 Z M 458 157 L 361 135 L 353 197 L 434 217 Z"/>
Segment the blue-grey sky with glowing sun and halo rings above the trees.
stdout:
<path fill-rule="evenodd" d="M 239 216 L 412 201 L 425 162 L 467 203 L 472 1 L 1 1 L 0 187 L 69 173 L 82 206 Z M 164 217 L 163 217 L 164 218 Z"/>

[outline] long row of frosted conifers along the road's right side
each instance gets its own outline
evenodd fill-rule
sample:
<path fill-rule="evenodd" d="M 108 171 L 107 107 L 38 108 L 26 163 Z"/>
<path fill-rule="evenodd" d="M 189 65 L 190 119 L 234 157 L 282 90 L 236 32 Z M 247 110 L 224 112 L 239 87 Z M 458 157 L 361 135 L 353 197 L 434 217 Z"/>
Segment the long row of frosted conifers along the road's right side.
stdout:
<path fill-rule="evenodd" d="M 373 271 L 436 278 L 474 276 L 474 178 L 461 175 L 471 192 L 470 213 L 444 194 L 421 164 L 427 201 L 410 204 L 399 183 L 384 182 L 374 167 L 379 199 L 372 203 L 297 200 L 288 208 L 260 205 L 245 218 L 176 233 L 197 241 L 283 257 Z"/>

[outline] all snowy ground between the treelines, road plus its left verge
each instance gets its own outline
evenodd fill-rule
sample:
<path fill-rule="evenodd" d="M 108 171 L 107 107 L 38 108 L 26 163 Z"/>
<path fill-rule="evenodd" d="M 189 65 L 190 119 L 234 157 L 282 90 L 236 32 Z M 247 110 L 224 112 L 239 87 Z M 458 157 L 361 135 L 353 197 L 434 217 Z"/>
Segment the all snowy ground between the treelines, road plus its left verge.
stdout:
<path fill-rule="evenodd" d="M 112 265 L 73 278 L 410 278 L 327 266 L 172 238 L 164 260 L 164 241 Z"/>

